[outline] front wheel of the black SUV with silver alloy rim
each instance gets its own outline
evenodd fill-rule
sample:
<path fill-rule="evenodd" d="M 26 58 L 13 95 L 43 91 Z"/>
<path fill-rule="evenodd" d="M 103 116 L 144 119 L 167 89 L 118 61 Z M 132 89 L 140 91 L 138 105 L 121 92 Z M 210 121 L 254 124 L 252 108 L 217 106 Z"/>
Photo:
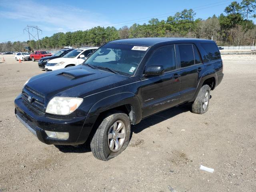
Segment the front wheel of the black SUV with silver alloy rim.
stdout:
<path fill-rule="evenodd" d="M 131 132 L 130 120 L 127 114 L 114 110 L 108 112 L 99 123 L 90 146 L 95 158 L 108 161 L 118 156 L 128 146 Z M 118 130 L 119 124 L 123 127 L 114 132 L 115 128 Z"/>

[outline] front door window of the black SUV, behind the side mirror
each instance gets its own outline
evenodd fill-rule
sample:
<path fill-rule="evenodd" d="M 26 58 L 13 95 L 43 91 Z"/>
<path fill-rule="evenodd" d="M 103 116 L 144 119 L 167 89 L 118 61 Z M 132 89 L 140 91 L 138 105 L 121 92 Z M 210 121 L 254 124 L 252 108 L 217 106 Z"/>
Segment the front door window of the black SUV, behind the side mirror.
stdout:
<path fill-rule="evenodd" d="M 174 45 L 158 48 L 147 63 L 147 66 L 150 65 L 162 65 L 165 72 L 176 69 Z"/>

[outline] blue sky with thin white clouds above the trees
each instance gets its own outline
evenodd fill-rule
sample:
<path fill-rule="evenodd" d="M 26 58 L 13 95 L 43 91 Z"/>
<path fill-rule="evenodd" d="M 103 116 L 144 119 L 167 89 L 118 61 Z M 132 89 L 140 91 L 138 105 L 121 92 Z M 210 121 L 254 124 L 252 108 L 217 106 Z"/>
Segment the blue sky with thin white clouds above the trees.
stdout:
<path fill-rule="evenodd" d="M 206 19 L 223 13 L 232 0 L 0 0 L 0 42 L 27 41 L 27 25 L 42 30 L 39 38 L 57 32 L 86 30 L 95 26 L 131 26 L 150 18 L 166 20 L 192 8 L 195 18 Z M 238 0 L 241 2 L 241 0 Z M 255 22 L 255 20 L 254 20 Z M 31 32 L 33 35 L 36 31 Z"/>

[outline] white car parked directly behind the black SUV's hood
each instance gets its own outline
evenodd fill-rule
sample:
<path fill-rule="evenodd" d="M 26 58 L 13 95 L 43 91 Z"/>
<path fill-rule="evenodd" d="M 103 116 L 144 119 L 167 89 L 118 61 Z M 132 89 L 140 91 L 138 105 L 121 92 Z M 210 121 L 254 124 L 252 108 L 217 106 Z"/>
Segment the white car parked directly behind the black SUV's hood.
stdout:
<path fill-rule="evenodd" d="M 45 70 L 53 71 L 57 69 L 62 69 L 62 68 L 82 64 L 84 60 L 87 59 L 87 56 L 93 53 L 97 49 L 98 47 L 86 47 L 86 48 L 74 49 L 61 58 L 56 58 L 48 61 L 48 63 L 45 66 Z"/>

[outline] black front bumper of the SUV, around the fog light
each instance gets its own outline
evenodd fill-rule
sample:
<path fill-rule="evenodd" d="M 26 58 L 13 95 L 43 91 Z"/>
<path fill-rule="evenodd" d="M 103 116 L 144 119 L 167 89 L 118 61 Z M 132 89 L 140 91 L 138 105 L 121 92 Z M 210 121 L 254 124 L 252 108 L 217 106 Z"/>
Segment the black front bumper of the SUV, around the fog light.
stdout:
<path fill-rule="evenodd" d="M 18 120 L 45 144 L 77 145 L 86 142 L 98 115 L 76 118 L 60 118 L 47 115 L 32 108 L 19 95 L 15 101 L 15 114 Z M 66 140 L 49 138 L 45 130 L 68 132 Z"/>

